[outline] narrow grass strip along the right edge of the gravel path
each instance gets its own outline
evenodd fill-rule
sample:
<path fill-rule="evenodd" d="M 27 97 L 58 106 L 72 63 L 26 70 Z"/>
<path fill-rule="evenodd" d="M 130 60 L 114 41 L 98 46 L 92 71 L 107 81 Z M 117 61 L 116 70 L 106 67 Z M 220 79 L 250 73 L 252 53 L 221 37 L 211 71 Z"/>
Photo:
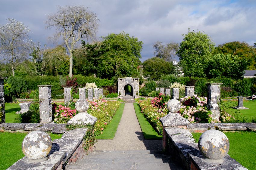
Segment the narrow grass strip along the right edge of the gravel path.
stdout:
<path fill-rule="evenodd" d="M 155 129 L 150 125 L 145 116 L 141 113 L 138 103 L 133 103 L 133 106 L 144 138 L 162 140 L 162 135 L 159 135 L 155 131 Z"/>

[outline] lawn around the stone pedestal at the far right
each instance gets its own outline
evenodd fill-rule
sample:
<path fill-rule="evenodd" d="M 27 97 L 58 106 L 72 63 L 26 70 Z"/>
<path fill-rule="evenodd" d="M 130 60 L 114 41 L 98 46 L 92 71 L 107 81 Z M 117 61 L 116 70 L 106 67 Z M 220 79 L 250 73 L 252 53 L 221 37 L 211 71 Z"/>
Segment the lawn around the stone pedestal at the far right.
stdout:
<path fill-rule="evenodd" d="M 231 114 L 236 118 L 236 116 L 240 116 L 243 118 L 244 116 L 252 119 L 253 117 L 256 117 L 256 101 L 244 101 L 244 107 L 249 108 L 248 110 L 236 110 L 233 109 L 233 106 L 237 106 L 237 101 L 224 101 L 226 106 L 226 112 Z M 239 111 L 238 114 L 236 112 Z"/>

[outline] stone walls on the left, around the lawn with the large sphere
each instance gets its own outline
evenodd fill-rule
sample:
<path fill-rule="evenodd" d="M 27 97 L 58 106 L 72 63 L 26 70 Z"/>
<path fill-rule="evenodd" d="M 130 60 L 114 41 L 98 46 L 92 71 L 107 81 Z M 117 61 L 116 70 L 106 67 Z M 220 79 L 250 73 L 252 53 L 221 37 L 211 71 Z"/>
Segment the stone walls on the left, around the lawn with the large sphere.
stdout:
<path fill-rule="evenodd" d="M 48 131 L 52 133 L 64 133 L 60 139 L 55 139 L 52 143 L 51 152 L 46 160 L 31 160 L 24 156 L 15 162 L 8 170 L 17 169 L 58 169 L 62 170 L 71 162 L 83 158 L 84 136 L 87 128 L 77 128 L 66 131 L 66 124 L 41 124 L 41 123 L 3 123 L 0 131 L 6 132 L 30 132 Z"/>

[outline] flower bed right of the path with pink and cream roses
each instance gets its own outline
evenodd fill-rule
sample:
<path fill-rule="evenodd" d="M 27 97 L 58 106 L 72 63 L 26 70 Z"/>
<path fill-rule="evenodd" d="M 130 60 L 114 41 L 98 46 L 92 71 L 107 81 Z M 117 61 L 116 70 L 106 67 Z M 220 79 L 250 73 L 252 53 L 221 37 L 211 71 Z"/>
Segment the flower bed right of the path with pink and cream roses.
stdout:
<path fill-rule="evenodd" d="M 141 113 L 146 117 L 148 122 L 155 128 L 158 134 L 162 134 L 163 127 L 160 118 L 169 113 L 166 105 L 169 99 L 163 94 L 155 97 L 152 100 L 139 100 L 138 104 L 141 108 Z M 212 112 L 207 108 L 207 97 L 198 97 L 196 94 L 193 97 L 184 97 L 180 99 L 181 108 L 177 112 L 191 123 L 213 123 Z M 234 119 L 233 116 L 220 111 L 220 121 L 229 122 Z"/>

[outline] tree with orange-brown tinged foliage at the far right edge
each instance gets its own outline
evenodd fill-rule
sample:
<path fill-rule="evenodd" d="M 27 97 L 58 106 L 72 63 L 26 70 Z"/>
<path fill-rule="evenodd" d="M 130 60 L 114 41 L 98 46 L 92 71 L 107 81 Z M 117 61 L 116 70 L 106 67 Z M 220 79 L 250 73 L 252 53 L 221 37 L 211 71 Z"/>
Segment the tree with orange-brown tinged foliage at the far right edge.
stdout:
<path fill-rule="evenodd" d="M 256 70 L 256 49 L 245 41 L 233 41 L 218 45 L 213 54 L 218 53 L 237 55 L 241 60 L 248 61 L 248 68 L 245 69 Z"/>

